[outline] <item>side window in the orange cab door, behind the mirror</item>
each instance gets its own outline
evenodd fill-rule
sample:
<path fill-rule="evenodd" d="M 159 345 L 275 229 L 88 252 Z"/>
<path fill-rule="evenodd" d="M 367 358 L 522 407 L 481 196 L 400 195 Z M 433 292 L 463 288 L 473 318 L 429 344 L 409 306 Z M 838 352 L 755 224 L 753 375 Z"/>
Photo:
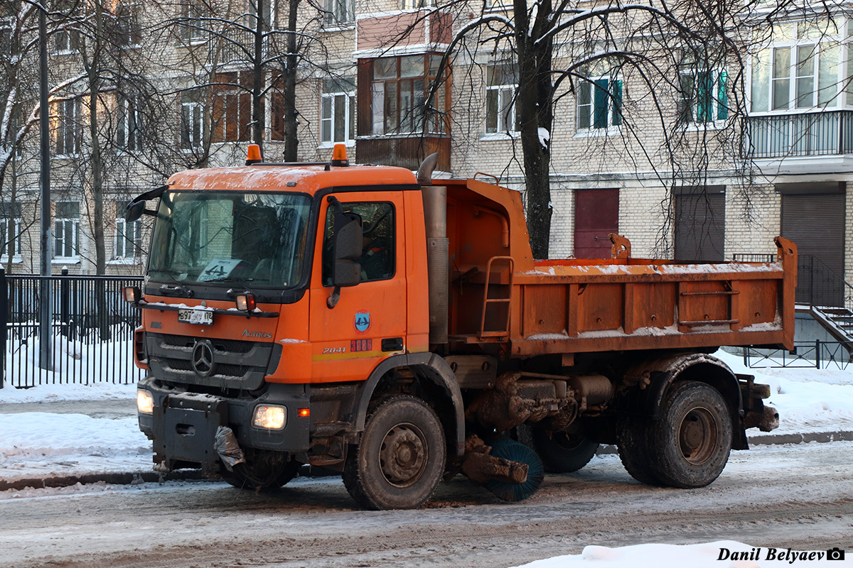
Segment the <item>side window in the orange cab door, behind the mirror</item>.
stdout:
<path fill-rule="evenodd" d="M 394 206 L 386 202 L 347 203 L 345 213 L 362 218 L 362 282 L 394 278 Z M 334 207 L 326 212 L 326 229 L 323 236 L 322 282 L 332 285 L 332 235 L 334 233 Z"/>

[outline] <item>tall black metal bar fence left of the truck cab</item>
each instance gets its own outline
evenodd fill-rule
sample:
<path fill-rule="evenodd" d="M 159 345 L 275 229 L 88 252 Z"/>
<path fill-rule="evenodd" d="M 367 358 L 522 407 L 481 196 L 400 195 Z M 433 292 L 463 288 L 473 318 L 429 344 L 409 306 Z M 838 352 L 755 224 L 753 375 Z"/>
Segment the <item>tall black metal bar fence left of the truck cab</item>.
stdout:
<path fill-rule="evenodd" d="M 41 360 L 41 282 L 49 281 L 49 359 Z M 141 378 L 133 364 L 136 307 L 121 289 L 140 277 L 5 275 L 0 269 L 0 387 L 112 382 Z"/>

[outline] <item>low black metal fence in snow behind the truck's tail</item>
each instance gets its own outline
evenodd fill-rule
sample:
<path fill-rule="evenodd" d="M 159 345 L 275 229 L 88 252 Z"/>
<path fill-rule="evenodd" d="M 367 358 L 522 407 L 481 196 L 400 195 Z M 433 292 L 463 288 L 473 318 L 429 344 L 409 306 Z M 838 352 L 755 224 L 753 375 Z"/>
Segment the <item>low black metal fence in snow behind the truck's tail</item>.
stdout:
<path fill-rule="evenodd" d="M 744 364 L 751 369 L 790 367 L 846 370 L 853 362 L 853 341 L 794 341 L 787 349 L 744 347 Z"/>

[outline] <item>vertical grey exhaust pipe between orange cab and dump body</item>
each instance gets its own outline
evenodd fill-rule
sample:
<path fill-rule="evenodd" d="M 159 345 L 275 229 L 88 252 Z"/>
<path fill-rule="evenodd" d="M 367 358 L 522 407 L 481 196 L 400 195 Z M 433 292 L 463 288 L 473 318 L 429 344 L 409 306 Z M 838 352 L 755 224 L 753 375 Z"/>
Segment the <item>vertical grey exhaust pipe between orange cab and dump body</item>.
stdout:
<path fill-rule="evenodd" d="M 429 285 L 429 342 L 447 343 L 450 239 L 447 238 L 447 186 L 432 185 L 438 153 L 427 156 L 418 168 L 427 229 L 427 278 Z"/>

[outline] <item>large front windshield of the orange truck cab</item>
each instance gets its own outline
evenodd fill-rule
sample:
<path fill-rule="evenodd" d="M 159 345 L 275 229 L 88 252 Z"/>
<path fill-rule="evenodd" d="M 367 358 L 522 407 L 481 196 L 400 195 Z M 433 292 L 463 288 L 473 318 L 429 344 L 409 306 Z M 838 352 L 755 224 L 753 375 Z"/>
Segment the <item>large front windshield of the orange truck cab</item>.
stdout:
<path fill-rule="evenodd" d="M 165 192 L 149 278 L 183 284 L 299 283 L 310 198 L 294 193 Z"/>

